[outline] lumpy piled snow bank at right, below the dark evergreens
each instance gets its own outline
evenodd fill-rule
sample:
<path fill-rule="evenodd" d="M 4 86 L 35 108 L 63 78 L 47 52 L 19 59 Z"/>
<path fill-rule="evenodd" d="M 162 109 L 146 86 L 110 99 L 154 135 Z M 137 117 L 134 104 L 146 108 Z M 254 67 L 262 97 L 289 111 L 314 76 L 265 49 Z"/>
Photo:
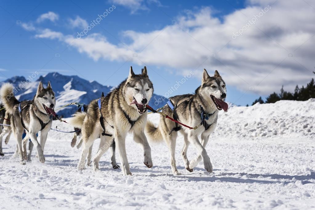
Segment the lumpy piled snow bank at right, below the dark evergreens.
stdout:
<path fill-rule="evenodd" d="M 278 101 L 220 112 L 214 135 L 242 138 L 309 136 L 314 131 L 315 100 Z M 292 136 L 293 135 L 293 136 Z"/>

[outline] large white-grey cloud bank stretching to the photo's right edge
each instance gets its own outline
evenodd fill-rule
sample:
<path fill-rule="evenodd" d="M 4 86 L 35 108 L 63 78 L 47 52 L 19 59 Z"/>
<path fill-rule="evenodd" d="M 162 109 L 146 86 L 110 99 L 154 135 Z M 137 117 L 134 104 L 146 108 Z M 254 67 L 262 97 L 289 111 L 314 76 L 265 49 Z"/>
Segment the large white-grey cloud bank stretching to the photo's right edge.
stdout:
<path fill-rule="evenodd" d="M 37 36 L 72 43 L 95 61 L 130 58 L 139 65 L 164 66 L 181 74 L 197 69 L 196 75 L 203 68 L 209 72 L 218 69 L 228 85 L 244 91 L 254 88 L 268 94 L 282 85 L 292 91 L 296 84 L 306 84 L 313 76 L 315 13 L 301 1 L 278 0 L 243 35 L 232 39 L 233 32 L 242 29 L 267 5 L 261 0 L 252 1 L 246 8 L 226 15 L 223 21 L 213 17 L 210 8 L 201 8 L 161 30 L 124 31 L 123 36 L 131 40 L 126 45 L 112 44 L 100 34 L 76 40 L 47 30 Z"/>

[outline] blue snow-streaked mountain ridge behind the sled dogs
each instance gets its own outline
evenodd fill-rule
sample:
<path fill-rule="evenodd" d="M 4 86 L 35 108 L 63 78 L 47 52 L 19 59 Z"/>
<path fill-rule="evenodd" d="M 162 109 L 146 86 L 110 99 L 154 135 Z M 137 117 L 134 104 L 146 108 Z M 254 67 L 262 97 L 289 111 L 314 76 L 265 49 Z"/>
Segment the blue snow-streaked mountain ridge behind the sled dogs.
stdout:
<path fill-rule="evenodd" d="M 38 77 L 38 78 L 37 78 Z M 113 88 L 113 86 L 105 86 L 96 82 L 95 80 L 85 80 L 77 75 L 62 75 L 58 72 L 50 72 L 46 75 L 37 75 L 35 78 L 26 78 L 24 76 L 14 76 L 7 80 L 0 82 L 2 86 L 4 83 L 11 83 L 16 87 L 17 93 L 16 98 L 19 101 L 31 100 L 37 91 L 38 82 L 41 81 L 44 87 L 47 86 L 48 82 L 55 92 L 56 97 L 56 109 L 72 102 L 79 102 L 89 104 L 90 101 L 99 98 L 104 92 L 106 95 Z M 158 99 L 162 96 L 153 94 L 149 105 L 157 109 L 163 106 L 165 103 L 158 103 Z M 163 104 L 163 105 L 162 105 Z M 77 106 L 67 106 L 57 110 L 56 113 L 59 116 L 70 117 L 77 111 Z"/>

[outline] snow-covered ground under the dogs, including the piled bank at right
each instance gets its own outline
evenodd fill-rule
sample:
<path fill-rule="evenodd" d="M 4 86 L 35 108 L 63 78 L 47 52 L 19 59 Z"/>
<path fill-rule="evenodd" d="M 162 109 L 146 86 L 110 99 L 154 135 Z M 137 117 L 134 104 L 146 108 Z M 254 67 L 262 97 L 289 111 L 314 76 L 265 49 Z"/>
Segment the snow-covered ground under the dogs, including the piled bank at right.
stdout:
<path fill-rule="evenodd" d="M 149 115 L 155 123 L 158 118 Z M 72 134 L 56 131 L 49 132 L 46 163 L 33 157 L 22 166 L 10 158 L 15 151 L 11 138 L 0 157 L 0 209 L 314 209 L 314 122 L 314 99 L 221 111 L 206 147 L 214 173 L 207 173 L 202 163 L 192 173 L 186 171 L 179 136 L 180 176 L 171 174 L 164 144 L 151 144 L 154 167 L 146 168 L 132 135 L 126 141 L 130 177 L 112 169 L 110 152 L 102 157 L 100 171 L 89 167 L 77 172 L 80 151 L 70 146 Z M 195 156 L 191 147 L 188 157 Z"/>

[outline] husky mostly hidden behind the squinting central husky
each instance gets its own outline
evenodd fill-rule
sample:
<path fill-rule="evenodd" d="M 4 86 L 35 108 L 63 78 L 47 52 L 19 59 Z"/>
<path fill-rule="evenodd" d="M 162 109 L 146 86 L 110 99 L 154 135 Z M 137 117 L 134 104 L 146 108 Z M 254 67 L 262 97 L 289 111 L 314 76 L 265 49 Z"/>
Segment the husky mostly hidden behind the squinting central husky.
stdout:
<path fill-rule="evenodd" d="M 102 95 L 102 97 L 104 97 L 104 95 Z M 77 112 L 76 113 L 86 113 L 88 110 L 88 106 L 87 105 L 83 105 L 81 106 L 80 108 L 78 108 Z M 74 115 L 76 115 L 76 113 Z M 74 130 L 76 131 L 74 133 L 74 136 L 72 138 L 72 141 L 71 141 L 71 146 L 74 147 L 76 145 L 76 142 L 77 142 L 77 137 L 80 137 L 81 136 L 81 130 L 79 128 L 74 128 Z M 99 137 L 100 138 L 100 137 Z M 79 149 L 81 147 L 83 143 L 83 139 L 81 138 L 81 141 L 78 143 L 77 145 L 77 149 Z M 90 146 L 89 148 L 89 153 L 88 153 L 88 159 L 87 159 L 87 165 L 90 166 L 91 165 L 91 160 L 92 160 L 92 148 L 93 148 L 93 144 Z M 115 156 L 115 140 L 113 140 L 113 143 L 111 144 L 111 150 L 112 150 L 112 167 L 114 169 L 119 169 L 120 166 L 117 165 L 116 163 L 116 156 Z"/>

